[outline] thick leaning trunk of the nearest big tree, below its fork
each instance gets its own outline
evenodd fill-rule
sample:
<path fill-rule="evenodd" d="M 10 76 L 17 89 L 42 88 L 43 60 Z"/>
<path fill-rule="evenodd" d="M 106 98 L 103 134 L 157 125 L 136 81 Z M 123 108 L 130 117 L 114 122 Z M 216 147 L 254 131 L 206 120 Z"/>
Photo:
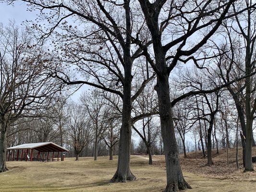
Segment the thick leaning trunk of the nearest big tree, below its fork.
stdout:
<path fill-rule="evenodd" d="M 179 150 L 173 126 L 168 75 L 157 78 L 159 116 L 166 162 L 167 186 L 165 192 L 191 188 L 184 180 L 179 160 Z"/>

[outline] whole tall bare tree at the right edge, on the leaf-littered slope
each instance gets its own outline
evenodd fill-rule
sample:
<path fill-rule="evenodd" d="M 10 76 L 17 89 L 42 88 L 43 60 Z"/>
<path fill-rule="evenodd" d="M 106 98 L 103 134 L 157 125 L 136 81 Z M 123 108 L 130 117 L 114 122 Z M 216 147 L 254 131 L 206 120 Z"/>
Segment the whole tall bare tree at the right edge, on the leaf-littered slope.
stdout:
<path fill-rule="evenodd" d="M 235 18 L 224 23 L 228 36 L 228 45 L 223 46 L 221 51 L 226 52 L 219 60 L 219 74 L 223 82 L 230 82 L 239 76 L 248 75 L 255 71 L 255 8 L 252 0 L 245 0 L 240 8 L 246 8 L 247 11 L 236 15 Z M 233 4 L 233 11 L 239 12 L 239 8 Z M 244 21 L 244 22 L 242 22 Z M 230 51 L 227 51 L 230 50 Z M 255 97 L 255 76 L 249 76 L 243 82 L 228 86 L 238 112 L 244 136 L 241 137 L 243 142 L 243 159 L 246 171 L 252 171 L 252 144 L 253 140 L 253 119 L 256 111 Z M 247 141 L 248 139 L 248 141 Z M 246 142 L 246 144 L 245 144 Z"/>

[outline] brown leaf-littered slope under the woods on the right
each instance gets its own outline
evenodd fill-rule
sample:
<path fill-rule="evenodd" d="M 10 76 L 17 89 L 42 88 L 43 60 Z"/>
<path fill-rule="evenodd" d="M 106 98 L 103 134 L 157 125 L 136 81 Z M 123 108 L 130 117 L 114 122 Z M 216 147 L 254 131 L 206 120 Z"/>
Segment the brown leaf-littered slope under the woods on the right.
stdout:
<path fill-rule="evenodd" d="M 227 152 L 224 149 L 220 149 L 219 154 L 216 152 L 216 150 L 212 151 L 214 163 L 212 166 L 206 165 L 207 157 L 203 157 L 201 151 L 196 154 L 197 159 L 195 159 L 195 152 L 188 153 L 186 159 L 183 158 L 183 155 L 180 155 L 183 170 L 207 178 L 256 182 L 256 171 L 244 173 L 242 148 L 239 148 L 238 151 L 239 169 L 236 168 L 235 149 L 229 149 L 229 164 L 227 163 Z M 256 156 L 256 147 L 253 147 L 253 156 Z M 165 168 L 164 156 L 155 156 L 155 159 L 158 159 L 158 161 L 154 161 L 153 166 Z M 256 168 L 256 164 L 254 165 Z"/>

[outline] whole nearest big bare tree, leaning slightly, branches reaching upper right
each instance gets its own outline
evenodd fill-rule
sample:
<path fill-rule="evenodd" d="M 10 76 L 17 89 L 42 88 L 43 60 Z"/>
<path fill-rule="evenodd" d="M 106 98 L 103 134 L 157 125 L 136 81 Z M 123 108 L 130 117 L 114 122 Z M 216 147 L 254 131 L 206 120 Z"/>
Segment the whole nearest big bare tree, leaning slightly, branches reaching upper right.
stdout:
<path fill-rule="evenodd" d="M 170 73 L 178 61 L 186 63 L 189 60 L 193 60 L 198 66 L 197 60 L 191 55 L 195 54 L 215 34 L 222 21 L 227 17 L 226 14 L 234 1 L 227 0 L 220 5 L 219 3 L 211 3 L 211 0 L 203 0 L 200 4 L 197 3 L 197 0 L 179 2 L 171 0 L 155 0 L 154 2 L 139 0 L 146 25 L 152 36 L 154 49 L 155 63 L 146 49 L 144 49 L 144 53 L 157 73 L 155 89 L 158 93 L 161 132 L 166 156 L 166 192 L 176 192 L 178 189 L 191 188 L 183 178 L 179 162 L 169 93 Z M 200 12 L 200 14 L 195 14 L 195 12 Z M 214 18 L 211 16 L 212 14 L 215 15 Z M 159 17 L 160 15 L 161 17 Z M 229 14 L 229 16 L 231 15 Z M 210 29 L 205 35 L 198 42 L 195 42 L 192 48 L 188 48 L 187 42 L 191 39 L 190 37 L 195 35 L 198 30 L 206 29 L 207 27 Z M 168 29 L 168 33 L 171 31 L 171 40 L 163 41 L 162 35 L 165 35 L 166 29 Z M 165 45 L 163 45 L 163 42 Z"/>

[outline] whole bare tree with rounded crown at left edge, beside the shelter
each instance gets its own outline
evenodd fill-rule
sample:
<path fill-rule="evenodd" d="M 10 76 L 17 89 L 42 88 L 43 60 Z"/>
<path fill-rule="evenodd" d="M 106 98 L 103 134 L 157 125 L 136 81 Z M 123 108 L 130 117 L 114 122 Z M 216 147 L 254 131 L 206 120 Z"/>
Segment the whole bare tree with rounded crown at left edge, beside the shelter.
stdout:
<path fill-rule="evenodd" d="M 43 67 L 45 56 L 28 32 L 13 23 L 0 26 L 0 172 L 7 170 L 7 130 L 30 111 L 47 106 L 60 90 Z"/>

